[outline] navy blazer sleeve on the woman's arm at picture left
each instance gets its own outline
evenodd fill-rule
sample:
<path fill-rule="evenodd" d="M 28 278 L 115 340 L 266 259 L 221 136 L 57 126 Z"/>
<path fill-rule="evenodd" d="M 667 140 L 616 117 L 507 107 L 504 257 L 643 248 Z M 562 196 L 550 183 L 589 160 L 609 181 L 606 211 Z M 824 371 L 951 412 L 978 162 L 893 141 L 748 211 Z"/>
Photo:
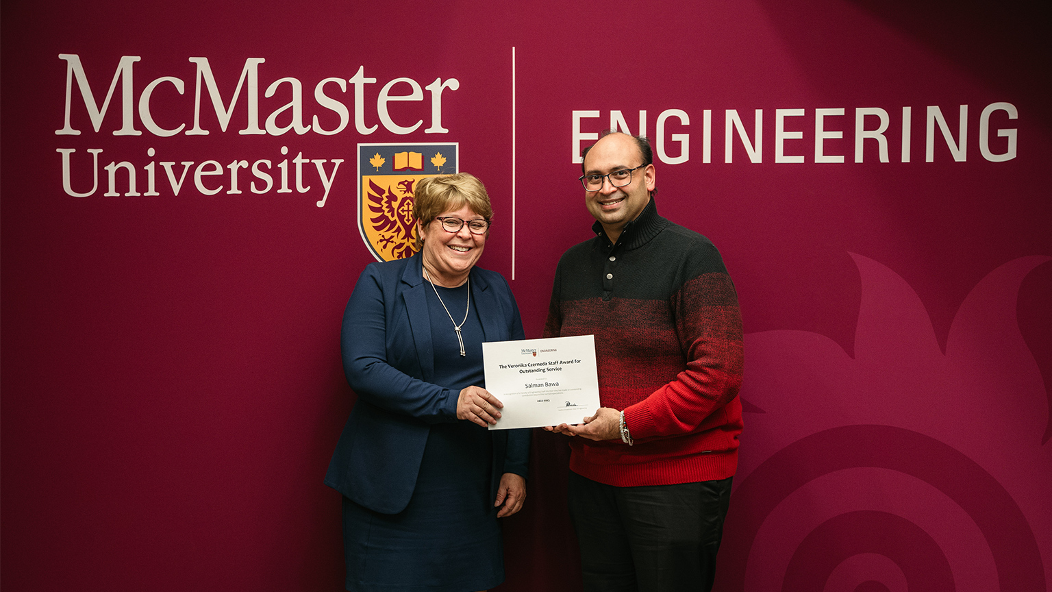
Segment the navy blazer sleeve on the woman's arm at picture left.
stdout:
<path fill-rule="evenodd" d="M 460 392 L 419 378 L 423 373 L 398 279 L 380 269 L 370 264 L 362 272 L 343 315 L 347 382 L 360 399 L 381 409 L 428 423 L 456 421 Z"/>

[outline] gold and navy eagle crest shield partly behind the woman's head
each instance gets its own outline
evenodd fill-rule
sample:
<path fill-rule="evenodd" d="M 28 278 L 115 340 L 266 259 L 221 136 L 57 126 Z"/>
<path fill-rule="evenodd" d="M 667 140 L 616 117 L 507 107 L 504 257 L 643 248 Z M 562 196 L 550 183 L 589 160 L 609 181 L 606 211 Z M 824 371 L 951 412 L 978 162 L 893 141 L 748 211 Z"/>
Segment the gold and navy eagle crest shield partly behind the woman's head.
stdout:
<path fill-rule="evenodd" d="M 417 252 L 413 191 L 424 177 L 458 172 L 456 142 L 358 144 L 358 230 L 380 261 Z"/>

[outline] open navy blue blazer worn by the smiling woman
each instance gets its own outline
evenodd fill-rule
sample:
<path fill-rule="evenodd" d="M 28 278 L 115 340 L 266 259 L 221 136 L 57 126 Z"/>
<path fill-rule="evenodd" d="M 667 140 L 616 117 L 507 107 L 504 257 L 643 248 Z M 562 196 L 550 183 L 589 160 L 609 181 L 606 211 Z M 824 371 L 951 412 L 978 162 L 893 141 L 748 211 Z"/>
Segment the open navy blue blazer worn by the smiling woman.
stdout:
<path fill-rule="evenodd" d="M 519 307 L 504 276 L 472 268 L 471 301 L 486 341 L 524 339 Z M 434 353 L 421 256 L 370 263 L 343 315 L 343 369 L 358 401 L 344 426 L 325 485 L 382 514 L 412 496 L 430 426 L 458 421 L 460 391 L 431 382 Z M 500 477 L 526 477 L 529 430 L 493 430 L 491 498 Z"/>

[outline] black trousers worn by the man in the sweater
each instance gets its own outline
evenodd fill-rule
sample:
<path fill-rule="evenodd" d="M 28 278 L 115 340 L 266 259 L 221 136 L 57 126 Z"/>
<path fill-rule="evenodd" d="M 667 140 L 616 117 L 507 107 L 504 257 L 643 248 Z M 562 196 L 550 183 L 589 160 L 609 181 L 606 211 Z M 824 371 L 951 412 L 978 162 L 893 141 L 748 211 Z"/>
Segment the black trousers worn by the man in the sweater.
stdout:
<path fill-rule="evenodd" d="M 730 484 L 613 487 L 571 471 L 585 592 L 711 590 Z"/>

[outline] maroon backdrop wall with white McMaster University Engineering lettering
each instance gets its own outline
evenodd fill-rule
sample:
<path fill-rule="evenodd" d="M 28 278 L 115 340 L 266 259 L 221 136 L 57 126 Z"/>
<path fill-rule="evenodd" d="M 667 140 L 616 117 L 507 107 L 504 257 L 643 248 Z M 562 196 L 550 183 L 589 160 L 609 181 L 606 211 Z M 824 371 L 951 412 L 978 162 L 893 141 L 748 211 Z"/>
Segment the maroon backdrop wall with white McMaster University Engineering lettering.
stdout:
<path fill-rule="evenodd" d="M 358 145 L 458 144 L 538 337 L 611 124 L 740 293 L 717 588 L 1048 589 L 1048 8 L 571 4 L 3 3 L 6 589 L 340 589 Z M 565 465 L 501 590 L 580 587 Z"/>

